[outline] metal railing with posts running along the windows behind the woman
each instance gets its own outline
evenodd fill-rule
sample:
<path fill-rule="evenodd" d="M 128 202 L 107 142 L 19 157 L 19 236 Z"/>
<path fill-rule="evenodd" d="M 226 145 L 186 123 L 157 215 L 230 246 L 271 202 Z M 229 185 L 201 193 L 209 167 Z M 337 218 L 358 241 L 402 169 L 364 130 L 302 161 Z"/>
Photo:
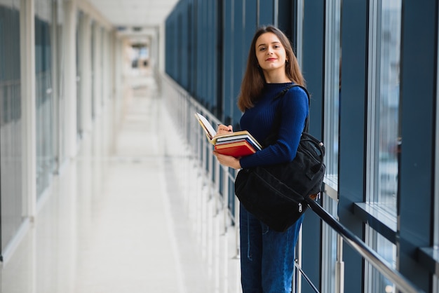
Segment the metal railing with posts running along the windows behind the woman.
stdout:
<path fill-rule="evenodd" d="M 163 97 L 167 102 L 167 107 L 170 111 L 173 111 L 173 117 L 175 118 L 175 123 L 180 125 L 180 130 L 182 135 L 186 137 L 187 142 L 191 147 L 191 152 L 196 160 L 199 162 L 199 167 L 205 173 L 205 177 L 210 181 L 210 187 L 212 188 L 212 194 L 217 200 L 216 210 L 217 212 L 223 212 L 224 214 L 224 226 L 223 231 L 227 231 L 230 223 L 233 223 L 236 227 L 238 222 L 236 221 L 238 217 L 238 200 L 236 196 L 229 196 L 231 182 L 234 182 L 236 176 L 236 170 L 231 170 L 230 168 L 224 168 L 224 166 L 216 163 L 215 158 L 212 154 L 208 154 L 208 150 L 211 146 L 205 135 L 200 129 L 200 125 L 196 118 L 194 118 L 194 113 L 199 112 L 205 116 L 212 125 L 220 123 L 218 119 L 213 116 L 208 109 L 205 109 L 203 105 L 196 102 L 189 93 L 182 89 L 175 81 L 170 79 L 166 75 L 158 76 L 161 80 L 161 85 L 163 86 Z M 346 229 L 340 222 L 335 219 L 329 212 L 323 209 L 317 202 L 309 200 L 309 207 L 315 212 L 320 219 L 330 226 L 337 233 L 337 261 L 342 264 L 342 245 L 343 240 L 348 245 L 350 245 L 358 254 L 360 254 L 365 260 L 367 260 L 374 268 L 379 271 L 384 277 L 389 279 L 400 292 L 404 293 L 419 293 L 423 292 L 416 285 L 413 285 L 410 280 L 407 280 L 401 273 L 396 271 L 396 269 L 391 268 L 389 264 L 381 257 L 377 252 L 368 247 L 363 240 L 358 238 L 351 231 Z M 237 227 L 238 228 L 238 227 Z M 238 229 L 236 231 L 236 256 L 239 255 L 239 240 L 238 240 Z M 300 242 L 300 239 L 299 239 Z M 298 247 L 301 244 L 298 243 Z M 311 280 L 305 275 L 299 264 L 295 264 L 297 268 L 297 273 L 302 274 L 304 279 L 309 282 L 310 287 L 318 292 L 317 287 L 311 282 Z M 342 273 L 337 276 L 339 280 L 336 280 L 337 292 L 343 292 L 343 280 L 344 273 L 343 270 L 339 270 Z M 300 292 L 300 290 L 299 290 Z"/>

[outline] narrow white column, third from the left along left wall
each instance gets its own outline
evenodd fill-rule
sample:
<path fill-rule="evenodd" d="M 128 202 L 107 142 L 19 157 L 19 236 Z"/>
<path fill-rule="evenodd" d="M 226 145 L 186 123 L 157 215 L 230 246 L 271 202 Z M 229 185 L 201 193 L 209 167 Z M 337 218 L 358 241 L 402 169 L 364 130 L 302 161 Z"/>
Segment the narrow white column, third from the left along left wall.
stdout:
<path fill-rule="evenodd" d="M 91 22 L 90 16 L 84 15 L 81 20 L 81 31 L 83 32 L 81 40 L 81 119 L 84 132 L 90 132 L 92 129 L 92 112 L 91 112 Z"/>

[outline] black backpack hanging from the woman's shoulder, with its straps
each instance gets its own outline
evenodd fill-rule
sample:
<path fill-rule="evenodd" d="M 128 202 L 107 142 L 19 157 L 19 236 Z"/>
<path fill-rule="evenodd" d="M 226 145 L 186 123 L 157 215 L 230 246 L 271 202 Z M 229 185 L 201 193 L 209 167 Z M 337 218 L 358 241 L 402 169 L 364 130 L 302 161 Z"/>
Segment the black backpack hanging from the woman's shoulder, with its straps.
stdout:
<path fill-rule="evenodd" d="M 291 85 L 279 93 L 282 97 Z M 305 90 L 306 95 L 309 93 Z M 278 115 L 280 116 L 280 115 Z M 267 146 L 276 142 L 281 118 L 273 123 L 275 131 L 266 139 Z M 235 194 L 245 209 L 270 229 L 285 231 L 305 212 L 306 200 L 315 200 L 322 191 L 325 177 L 325 147 L 323 142 L 308 133 L 309 118 L 300 138 L 296 157 L 288 163 L 242 169 L 235 180 Z"/>

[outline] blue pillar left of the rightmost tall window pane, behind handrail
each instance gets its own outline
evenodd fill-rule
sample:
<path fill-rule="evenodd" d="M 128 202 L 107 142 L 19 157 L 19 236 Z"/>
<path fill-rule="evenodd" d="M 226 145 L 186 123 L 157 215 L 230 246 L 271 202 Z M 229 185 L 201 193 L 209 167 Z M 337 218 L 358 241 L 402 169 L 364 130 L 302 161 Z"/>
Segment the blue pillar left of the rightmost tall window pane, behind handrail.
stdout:
<path fill-rule="evenodd" d="M 347 0 L 342 10 L 342 99 L 339 130 L 339 218 L 364 239 L 363 223 L 353 215 L 353 203 L 363 202 L 365 192 L 365 129 L 367 104 L 367 3 Z M 355 109 L 355 111 L 352 111 Z M 346 292 L 361 292 L 363 261 L 344 248 Z"/>

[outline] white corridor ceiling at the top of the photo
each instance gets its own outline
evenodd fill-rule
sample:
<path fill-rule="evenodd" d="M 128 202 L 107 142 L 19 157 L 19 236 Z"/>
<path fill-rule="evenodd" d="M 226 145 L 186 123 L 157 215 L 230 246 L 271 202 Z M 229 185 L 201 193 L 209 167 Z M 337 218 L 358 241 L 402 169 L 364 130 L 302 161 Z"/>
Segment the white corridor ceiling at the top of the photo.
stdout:
<path fill-rule="evenodd" d="M 158 27 L 178 0 L 88 0 L 114 27 Z"/>

